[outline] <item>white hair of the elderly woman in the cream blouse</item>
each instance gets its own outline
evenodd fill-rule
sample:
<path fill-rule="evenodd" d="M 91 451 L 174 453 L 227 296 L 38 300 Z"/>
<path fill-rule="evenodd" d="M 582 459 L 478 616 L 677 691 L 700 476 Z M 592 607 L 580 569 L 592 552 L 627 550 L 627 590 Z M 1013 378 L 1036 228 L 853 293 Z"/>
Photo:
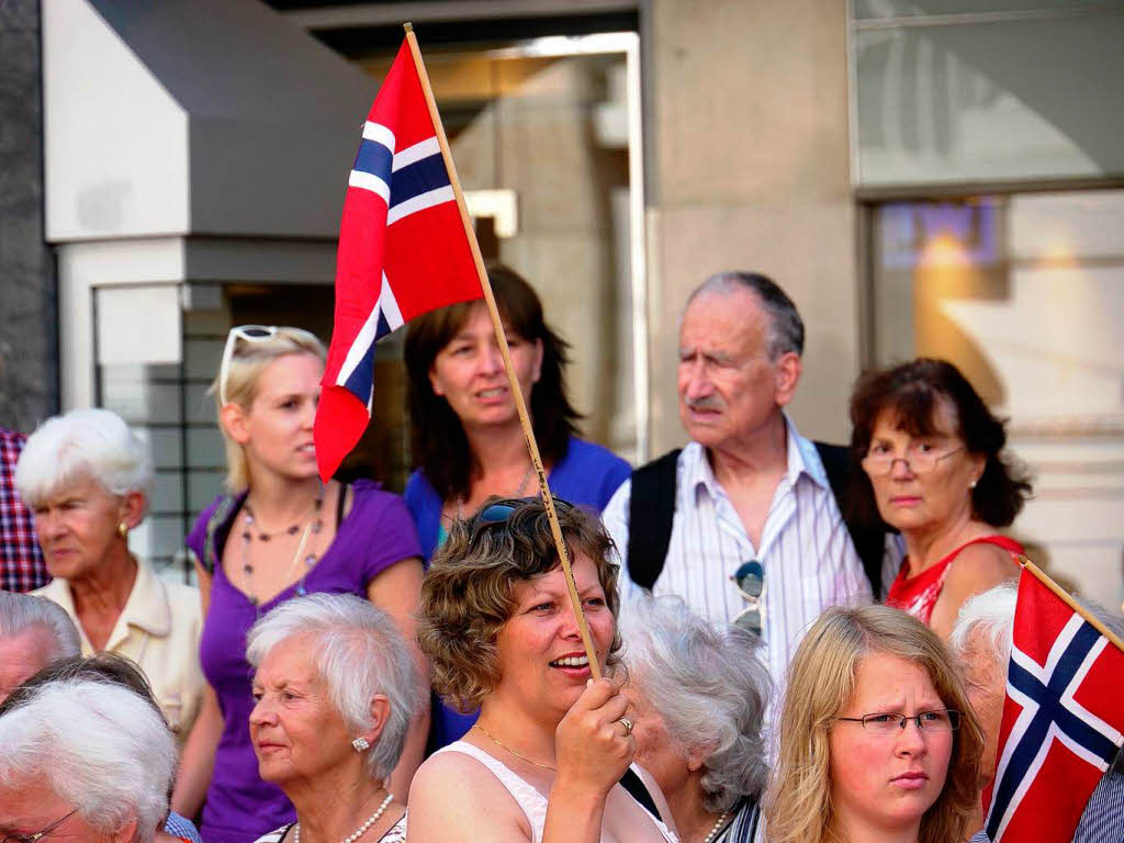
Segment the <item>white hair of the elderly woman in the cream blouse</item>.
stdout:
<path fill-rule="evenodd" d="M 85 479 L 110 495 L 139 491 L 147 499 L 152 478 L 144 443 L 120 416 L 105 409 L 48 418 L 27 437 L 16 463 L 16 489 L 31 509 Z"/>

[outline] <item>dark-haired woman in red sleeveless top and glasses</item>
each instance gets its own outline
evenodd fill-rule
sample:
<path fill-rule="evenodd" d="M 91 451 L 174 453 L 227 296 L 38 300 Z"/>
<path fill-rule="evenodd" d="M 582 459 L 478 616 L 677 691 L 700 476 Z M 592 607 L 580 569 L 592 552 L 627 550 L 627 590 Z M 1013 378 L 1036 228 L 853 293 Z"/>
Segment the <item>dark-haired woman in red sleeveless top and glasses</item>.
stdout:
<path fill-rule="evenodd" d="M 863 375 L 851 425 L 852 500 L 905 541 L 886 602 L 946 638 L 964 600 L 1018 573 L 1023 547 L 999 529 L 1031 484 L 1004 459 L 1004 423 L 952 363 L 919 357 Z"/>

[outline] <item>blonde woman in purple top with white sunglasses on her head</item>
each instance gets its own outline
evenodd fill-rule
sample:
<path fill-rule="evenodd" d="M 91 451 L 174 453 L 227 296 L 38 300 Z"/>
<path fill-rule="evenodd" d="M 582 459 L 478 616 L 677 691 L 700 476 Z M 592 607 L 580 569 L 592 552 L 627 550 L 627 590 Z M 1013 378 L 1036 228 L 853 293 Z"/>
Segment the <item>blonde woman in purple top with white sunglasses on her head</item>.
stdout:
<path fill-rule="evenodd" d="M 245 640 L 259 617 L 300 595 L 353 593 L 414 638 L 422 560 L 405 505 L 378 483 L 325 486 L 317 473 L 312 422 L 324 357 L 308 332 L 242 326 L 227 337 L 212 384 L 228 493 L 203 510 L 187 540 L 206 613 L 200 656 L 208 688 L 173 795 L 184 816 L 202 805 L 208 843 L 256 840 L 296 816 L 284 792 L 259 776 L 251 741 Z M 390 779 L 399 798 L 427 731 L 425 711 Z"/>

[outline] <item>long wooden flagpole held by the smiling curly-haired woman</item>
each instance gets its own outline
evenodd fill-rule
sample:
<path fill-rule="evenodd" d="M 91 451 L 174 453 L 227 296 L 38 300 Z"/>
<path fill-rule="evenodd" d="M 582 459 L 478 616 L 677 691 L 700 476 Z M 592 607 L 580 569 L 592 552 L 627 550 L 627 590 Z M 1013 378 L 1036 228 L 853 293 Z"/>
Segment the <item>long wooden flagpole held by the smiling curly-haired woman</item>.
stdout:
<path fill-rule="evenodd" d="M 519 424 L 523 426 L 523 437 L 527 443 L 527 451 L 531 453 L 531 463 L 535 466 L 535 474 L 538 477 L 538 489 L 543 496 L 543 508 L 551 523 L 551 533 L 554 535 L 554 546 L 559 552 L 559 561 L 562 563 L 562 573 L 565 577 L 566 589 L 570 591 L 570 602 L 573 605 L 574 617 L 578 618 L 578 629 L 581 633 L 581 643 L 586 649 L 586 656 L 589 659 L 589 670 L 593 679 L 601 678 L 601 665 L 597 661 L 597 652 L 593 649 L 593 640 L 589 634 L 589 624 L 586 622 L 586 613 L 581 610 L 581 598 L 578 595 L 578 586 L 573 581 L 573 569 L 570 566 L 570 554 L 566 553 L 565 541 L 562 538 L 562 527 L 559 524 L 559 515 L 554 508 L 554 497 L 546 483 L 546 472 L 543 470 L 543 460 L 538 454 L 538 443 L 535 441 L 535 432 L 531 427 L 531 416 L 527 414 L 527 404 L 523 400 L 523 390 L 519 389 L 519 381 L 515 375 L 515 366 L 511 364 L 511 352 L 507 345 L 507 334 L 504 332 L 504 320 L 500 318 L 499 308 L 496 307 L 496 296 L 492 293 L 491 282 L 488 280 L 488 271 L 484 269 L 484 261 L 480 254 L 480 244 L 477 243 L 477 233 L 472 227 L 472 218 L 469 216 L 469 208 L 464 202 L 464 193 L 461 191 L 461 181 L 456 176 L 456 166 L 453 164 L 453 153 L 448 148 L 448 139 L 445 137 L 445 127 L 441 123 L 441 115 L 437 112 L 437 103 L 433 97 L 433 88 L 429 85 L 429 74 L 426 73 L 425 63 L 422 61 L 422 51 L 418 48 L 417 38 L 414 35 L 414 26 L 404 24 L 406 29 L 406 40 L 410 45 L 410 54 L 414 56 L 414 66 L 417 69 L 418 79 L 422 80 L 422 90 L 425 92 L 425 101 L 429 107 L 429 117 L 433 119 L 434 128 L 437 132 L 437 143 L 441 145 L 442 157 L 445 158 L 445 167 L 448 170 L 448 180 L 453 185 L 453 196 L 456 197 L 456 207 L 461 211 L 461 221 L 464 224 L 464 233 L 469 238 L 472 248 L 472 260 L 477 265 L 477 274 L 480 277 L 480 287 L 484 292 L 484 303 L 488 306 L 488 315 L 492 320 L 492 328 L 496 330 L 496 339 L 499 343 L 499 352 L 504 357 L 504 369 L 507 372 L 507 382 L 515 399 L 515 408 L 519 414 Z"/>

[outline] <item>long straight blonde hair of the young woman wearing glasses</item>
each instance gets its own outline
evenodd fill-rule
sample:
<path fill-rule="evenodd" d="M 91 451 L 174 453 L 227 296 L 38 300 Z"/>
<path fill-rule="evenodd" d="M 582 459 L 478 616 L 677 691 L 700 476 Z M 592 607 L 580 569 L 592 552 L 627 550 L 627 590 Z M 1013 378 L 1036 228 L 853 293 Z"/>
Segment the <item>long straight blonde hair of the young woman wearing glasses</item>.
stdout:
<path fill-rule="evenodd" d="M 832 823 L 828 732 L 854 692 L 859 662 L 871 654 L 925 668 L 949 708 L 961 711 L 944 788 L 921 822 L 921 843 L 962 841 L 978 800 L 984 733 L 955 662 L 936 634 L 887 606 L 827 609 L 796 651 L 780 719 L 780 756 L 768 798 L 770 843 L 839 840 Z"/>

